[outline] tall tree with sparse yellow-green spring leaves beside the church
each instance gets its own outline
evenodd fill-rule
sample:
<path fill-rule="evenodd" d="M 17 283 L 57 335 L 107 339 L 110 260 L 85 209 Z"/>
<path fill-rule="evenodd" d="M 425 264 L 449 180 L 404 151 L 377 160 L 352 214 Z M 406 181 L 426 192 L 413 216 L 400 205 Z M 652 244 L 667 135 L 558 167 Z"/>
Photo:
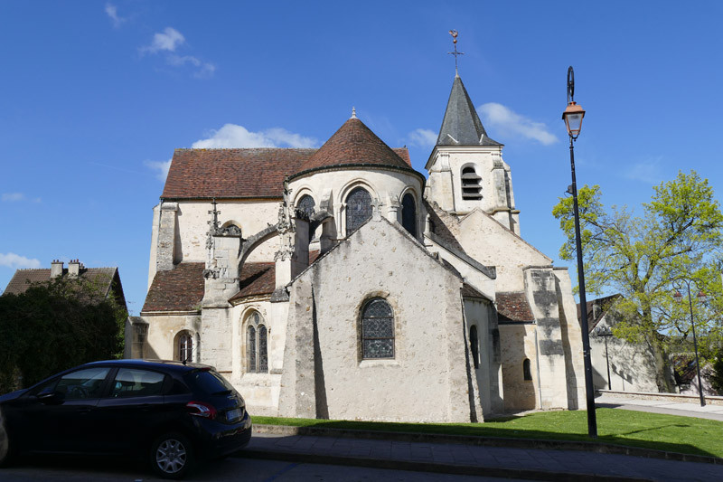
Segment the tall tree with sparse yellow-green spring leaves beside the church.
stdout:
<path fill-rule="evenodd" d="M 716 260 L 723 247 L 723 213 L 708 180 L 695 171 L 680 172 L 670 182 L 653 187 L 650 203 L 643 203 L 643 216 L 627 208 L 602 203 L 600 186 L 585 185 L 578 191 L 580 229 L 585 264 L 586 290 L 592 294 L 617 291 L 623 295 L 617 308 L 624 321 L 615 336 L 646 344 L 661 356 L 671 343 L 687 344 L 690 336 L 690 308 L 672 300 L 672 280 L 700 279 L 709 303 L 695 304 L 697 334 L 719 339 L 721 282 Z M 552 210 L 568 240 L 560 258 L 576 259 L 572 198 L 562 198 Z M 692 293 L 695 297 L 697 293 Z M 667 334 L 671 336 L 662 336 Z M 709 336 L 710 335 L 710 336 Z M 671 387 L 662 364 L 656 382 L 662 391 Z"/>

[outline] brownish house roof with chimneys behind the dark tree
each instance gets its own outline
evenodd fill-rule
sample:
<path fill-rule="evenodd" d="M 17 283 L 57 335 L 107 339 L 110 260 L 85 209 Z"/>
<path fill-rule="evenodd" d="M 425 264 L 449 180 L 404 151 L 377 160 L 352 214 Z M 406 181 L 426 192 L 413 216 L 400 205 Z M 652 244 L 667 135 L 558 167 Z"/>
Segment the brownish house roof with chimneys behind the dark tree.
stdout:
<path fill-rule="evenodd" d="M 67 268 L 62 270 L 61 278 L 69 279 Z M 104 298 L 108 297 L 108 293 L 113 290 L 117 302 L 122 307 L 126 307 L 126 298 L 123 294 L 123 287 L 120 284 L 120 275 L 118 274 L 117 268 L 82 267 L 79 270 L 78 278 L 93 283 L 94 286 L 99 288 L 99 292 Z M 7 288 L 5 288 L 3 295 L 20 295 L 33 284 L 47 283 L 50 280 L 50 269 L 18 269 L 15 271 L 13 278 L 10 279 L 10 282 L 7 284 Z"/>

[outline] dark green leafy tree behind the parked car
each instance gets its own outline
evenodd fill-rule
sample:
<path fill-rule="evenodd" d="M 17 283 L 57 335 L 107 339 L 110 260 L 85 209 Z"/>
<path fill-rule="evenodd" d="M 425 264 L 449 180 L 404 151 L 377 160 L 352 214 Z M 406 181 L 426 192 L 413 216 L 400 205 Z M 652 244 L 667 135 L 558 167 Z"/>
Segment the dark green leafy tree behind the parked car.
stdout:
<path fill-rule="evenodd" d="M 0 393 L 123 353 L 126 308 L 91 280 L 53 279 L 0 297 Z"/>

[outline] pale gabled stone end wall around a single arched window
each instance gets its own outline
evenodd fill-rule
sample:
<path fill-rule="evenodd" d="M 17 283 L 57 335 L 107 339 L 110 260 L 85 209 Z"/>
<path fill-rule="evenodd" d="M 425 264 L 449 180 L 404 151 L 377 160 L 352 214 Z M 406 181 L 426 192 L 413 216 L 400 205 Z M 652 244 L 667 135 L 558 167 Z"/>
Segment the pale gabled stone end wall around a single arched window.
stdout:
<path fill-rule="evenodd" d="M 369 222 L 305 271 L 292 289 L 297 283 L 313 287 L 308 289 L 313 300 L 297 298 L 295 291 L 291 299 L 298 313 L 307 314 L 295 324 L 308 326 L 316 316 L 317 413 L 324 401 L 321 411 L 331 419 L 470 420 L 460 280 L 397 228 Z M 394 313 L 393 359 L 362 360 L 361 310 L 375 297 L 385 298 Z M 314 344 L 299 338 L 312 331 L 296 330 L 296 352 Z M 285 364 L 297 364 L 296 352 L 286 355 Z M 296 379 L 309 376 L 297 373 Z"/>

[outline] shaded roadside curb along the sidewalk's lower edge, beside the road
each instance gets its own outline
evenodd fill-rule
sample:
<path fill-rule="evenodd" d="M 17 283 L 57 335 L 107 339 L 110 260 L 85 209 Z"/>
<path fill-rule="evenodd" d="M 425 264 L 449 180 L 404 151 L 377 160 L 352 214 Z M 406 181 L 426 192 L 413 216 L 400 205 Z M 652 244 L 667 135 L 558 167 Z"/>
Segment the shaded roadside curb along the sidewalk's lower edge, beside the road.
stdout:
<path fill-rule="evenodd" d="M 501 468 L 465 466 L 456 464 L 438 464 L 392 458 L 337 457 L 321 454 L 306 454 L 274 450 L 244 449 L 236 454 L 239 458 L 260 458 L 265 460 L 284 460 L 305 464 L 325 464 L 366 468 L 387 468 L 392 470 L 410 470 L 413 472 L 431 472 L 459 476 L 484 476 L 500 478 L 520 478 L 525 480 L 543 480 L 552 482 L 579 482 L 596 480 L 598 482 L 650 482 L 652 479 L 639 477 L 606 476 L 574 472 L 556 472 L 540 469 Z"/>

